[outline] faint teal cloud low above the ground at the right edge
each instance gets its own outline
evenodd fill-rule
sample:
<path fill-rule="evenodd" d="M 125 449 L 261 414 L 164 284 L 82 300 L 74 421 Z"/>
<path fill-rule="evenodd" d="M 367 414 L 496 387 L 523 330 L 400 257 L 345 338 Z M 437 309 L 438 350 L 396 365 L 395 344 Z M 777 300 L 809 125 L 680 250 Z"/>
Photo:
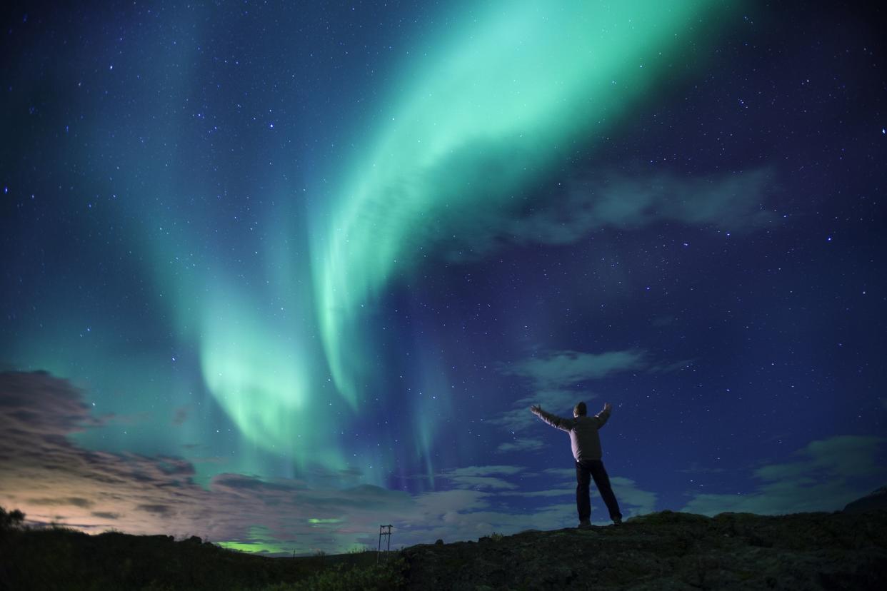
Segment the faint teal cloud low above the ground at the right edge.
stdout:
<path fill-rule="evenodd" d="M 750 494 L 694 494 L 685 511 L 715 515 L 724 511 L 763 515 L 842 509 L 880 483 L 887 468 L 879 461 L 887 438 L 839 435 L 810 442 L 786 463 L 753 472 Z"/>

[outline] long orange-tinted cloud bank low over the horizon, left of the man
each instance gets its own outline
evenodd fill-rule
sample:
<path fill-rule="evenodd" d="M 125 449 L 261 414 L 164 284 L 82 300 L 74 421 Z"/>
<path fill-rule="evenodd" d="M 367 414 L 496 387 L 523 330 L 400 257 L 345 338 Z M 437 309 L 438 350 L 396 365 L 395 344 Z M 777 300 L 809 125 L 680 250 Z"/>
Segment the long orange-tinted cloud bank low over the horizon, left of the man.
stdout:
<path fill-rule="evenodd" d="M 526 471 L 520 465 L 446 470 L 441 476 L 453 487 L 424 494 L 231 473 L 204 487 L 182 458 L 109 454 L 67 438 L 90 424 L 98 423 L 67 381 L 0 374 L 0 505 L 23 510 L 32 524 L 199 535 L 232 548 L 300 554 L 373 546 L 380 523 L 395 525 L 396 546 L 575 525 L 571 501 L 546 504 L 557 496 L 546 492 L 508 494 L 517 491 L 510 479 Z M 329 482 L 343 475 L 359 478 L 356 470 L 326 474 Z M 526 499 L 535 503 L 531 509 Z"/>

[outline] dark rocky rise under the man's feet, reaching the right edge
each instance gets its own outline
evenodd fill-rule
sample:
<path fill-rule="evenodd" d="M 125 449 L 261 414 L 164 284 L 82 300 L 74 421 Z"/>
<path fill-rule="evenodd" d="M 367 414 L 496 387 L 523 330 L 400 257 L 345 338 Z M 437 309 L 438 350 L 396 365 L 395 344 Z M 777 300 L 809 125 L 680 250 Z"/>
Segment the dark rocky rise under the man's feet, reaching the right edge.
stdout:
<path fill-rule="evenodd" d="M 703 517 L 404 550 L 412 589 L 887 589 L 887 511 Z"/>

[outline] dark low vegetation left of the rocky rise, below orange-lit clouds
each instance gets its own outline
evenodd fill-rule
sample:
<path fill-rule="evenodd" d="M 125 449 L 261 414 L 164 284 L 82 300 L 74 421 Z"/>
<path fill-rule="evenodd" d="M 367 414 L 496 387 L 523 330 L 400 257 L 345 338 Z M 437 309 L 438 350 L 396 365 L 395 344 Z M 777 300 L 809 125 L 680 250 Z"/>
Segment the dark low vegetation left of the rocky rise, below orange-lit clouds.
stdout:
<path fill-rule="evenodd" d="M 374 551 L 270 558 L 197 537 L 32 528 L 24 517 L 0 508 L 0 589 L 381 590 L 404 584 L 403 560 L 376 564 Z"/>

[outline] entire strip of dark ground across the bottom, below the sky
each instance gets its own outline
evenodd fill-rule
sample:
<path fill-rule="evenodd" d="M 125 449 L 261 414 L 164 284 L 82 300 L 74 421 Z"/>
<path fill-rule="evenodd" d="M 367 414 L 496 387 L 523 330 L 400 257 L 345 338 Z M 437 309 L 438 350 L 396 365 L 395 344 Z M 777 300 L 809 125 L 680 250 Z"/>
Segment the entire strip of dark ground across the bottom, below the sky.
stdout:
<path fill-rule="evenodd" d="M 268 558 L 200 539 L 0 529 L 0 590 L 887 589 L 887 511 L 703 517 Z"/>

